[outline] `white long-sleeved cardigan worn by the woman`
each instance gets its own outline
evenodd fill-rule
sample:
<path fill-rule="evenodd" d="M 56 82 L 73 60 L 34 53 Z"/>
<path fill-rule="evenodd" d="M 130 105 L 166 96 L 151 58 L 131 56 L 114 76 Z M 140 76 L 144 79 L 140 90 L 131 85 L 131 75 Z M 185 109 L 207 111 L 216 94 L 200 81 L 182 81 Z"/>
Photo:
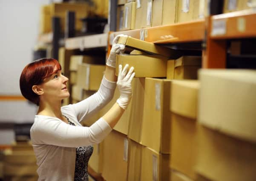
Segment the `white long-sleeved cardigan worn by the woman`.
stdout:
<path fill-rule="evenodd" d="M 61 107 L 62 114 L 77 126 L 56 117 L 35 115 L 30 136 L 37 158 L 38 181 L 74 181 L 76 147 L 99 143 L 112 131 L 102 117 L 90 127 L 83 127 L 79 122 L 109 103 L 115 86 L 115 82 L 103 77 L 94 95 Z"/>

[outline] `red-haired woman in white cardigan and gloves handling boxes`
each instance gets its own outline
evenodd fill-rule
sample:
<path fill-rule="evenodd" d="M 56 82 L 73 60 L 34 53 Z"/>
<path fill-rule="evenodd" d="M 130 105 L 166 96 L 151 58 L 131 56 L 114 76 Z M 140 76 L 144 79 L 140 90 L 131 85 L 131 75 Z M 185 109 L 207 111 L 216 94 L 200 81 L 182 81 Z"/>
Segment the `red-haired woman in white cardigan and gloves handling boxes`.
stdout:
<path fill-rule="evenodd" d="M 101 142 L 112 131 L 132 96 L 133 67 L 128 72 L 128 65 L 123 70 L 120 65 L 118 78 L 115 76 L 116 53 L 124 49 L 124 45 L 117 44 L 120 36 L 113 40 L 98 92 L 79 103 L 61 107 L 61 100 L 69 97 L 68 78 L 61 74 L 55 59 L 33 61 L 21 73 L 22 95 L 39 106 L 30 130 L 39 181 L 88 180 L 90 145 Z M 82 127 L 81 120 L 112 99 L 116 85 L 120 97 L 112 108 L 90 127 Z"/>

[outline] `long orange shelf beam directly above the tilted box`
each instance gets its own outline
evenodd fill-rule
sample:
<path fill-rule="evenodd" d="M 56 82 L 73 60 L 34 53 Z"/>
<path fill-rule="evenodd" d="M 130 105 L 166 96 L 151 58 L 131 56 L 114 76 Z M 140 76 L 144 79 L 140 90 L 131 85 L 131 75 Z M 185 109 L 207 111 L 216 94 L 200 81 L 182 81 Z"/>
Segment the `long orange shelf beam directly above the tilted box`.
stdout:
<path fill-rule="evenodd" d="M 110 35 L 109 43 L 112 43 L 113 37 L 118 34 L 126 34 L 141 39 L 141 31 L 144 31 L 144 41 L 146 42 L 158 44 L 199 42 L 204 39 L 205 21 L 202 19 L 173 25 L 113 32 Z"/>

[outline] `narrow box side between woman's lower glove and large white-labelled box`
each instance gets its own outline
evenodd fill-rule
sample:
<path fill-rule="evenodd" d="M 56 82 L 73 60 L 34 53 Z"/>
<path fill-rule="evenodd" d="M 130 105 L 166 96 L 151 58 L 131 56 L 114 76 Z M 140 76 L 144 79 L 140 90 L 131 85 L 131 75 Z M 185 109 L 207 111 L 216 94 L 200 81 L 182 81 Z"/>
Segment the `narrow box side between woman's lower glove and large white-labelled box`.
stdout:
<path fill-rule="evenodd" d="M 145 78 L 133 78 L 131 115 L 128 137 L 135 142 L 141 142 L 141 126 L 144 109 Z"/>

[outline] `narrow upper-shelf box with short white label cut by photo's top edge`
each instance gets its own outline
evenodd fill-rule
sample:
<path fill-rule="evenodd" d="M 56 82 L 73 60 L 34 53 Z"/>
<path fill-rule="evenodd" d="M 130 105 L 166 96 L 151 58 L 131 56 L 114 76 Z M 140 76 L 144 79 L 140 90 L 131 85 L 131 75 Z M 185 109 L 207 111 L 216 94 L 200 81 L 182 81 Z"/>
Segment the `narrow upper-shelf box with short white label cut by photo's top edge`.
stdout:
<path fill-rule="evenodd" d="M 136 3 L 135 29 L 147 27 L 147 2 L 148 0 L 140 0 Z"/>

